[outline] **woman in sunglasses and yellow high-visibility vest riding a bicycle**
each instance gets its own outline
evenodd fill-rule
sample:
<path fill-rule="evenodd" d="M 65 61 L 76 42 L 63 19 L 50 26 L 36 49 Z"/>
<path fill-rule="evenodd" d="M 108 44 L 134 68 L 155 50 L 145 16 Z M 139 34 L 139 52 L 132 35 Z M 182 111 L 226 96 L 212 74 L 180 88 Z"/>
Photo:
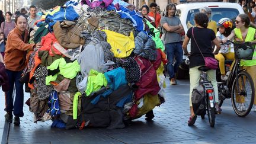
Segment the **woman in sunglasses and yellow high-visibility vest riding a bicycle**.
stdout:
<path fill-rule="evenodd" d="M 235 41 L 256 41 L 256 33 L 255 28 L 249 27 L 250 20 L 248 15 L 239 14 L 236 17 L 235 25 L 236 28 L 231 32 L 231 34 L 223 39 L 223 43 L 226 43 L 227 40 L 231 40 L 234 38 Z M 256 50 L 256 49 L 255 49 Z M 251 75 L 252 81 L 254 82 L 254 86 L 256 85 L 256 52 L 254 50 L 254 55 L 252 60 L 241 60 L 240 66 L 242 69 L 246 69 L 246 71 Z M 255 89 L 256 92 L 256 89 Z M 245 109 L 245 100 L 243 98 L 239 98 L 239 95 L 236 96 L 236 103 L 239 103 L 238 110 Z M 256 104 L 256 98 L 254 100 L 254 104 Z M 256 112 L 256 106 L 254 107 L 254 111 Z"/>

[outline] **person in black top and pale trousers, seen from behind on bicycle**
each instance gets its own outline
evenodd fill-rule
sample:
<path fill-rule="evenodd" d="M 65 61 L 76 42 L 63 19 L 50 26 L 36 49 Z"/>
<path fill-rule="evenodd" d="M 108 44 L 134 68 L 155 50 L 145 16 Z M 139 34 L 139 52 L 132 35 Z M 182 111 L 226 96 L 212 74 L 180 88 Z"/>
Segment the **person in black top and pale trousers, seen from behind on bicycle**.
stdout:
<path fill-rule="evenodd" d="M 214 55 L 219 52 L 220 49 L 220 43 L 217 41 L 217 38 L 215 36 L 215 32 L 209 28 L 207 28 L 208 25 L 208 17 L 204 13 L 198 13 L 194 16 L 194 21 L 196 24 L 196 27 L 191 27 L 187 31 L 187 35 L 183 42 L 183 50 L 184 55 L 190 55 L 190 120 L 188 120 L 188 126 L 191 126 L 195 123 L 197 116 L 194 114 L 192 103 L 191 103 L 191 94 L 193 91 L 193 88 L 197 87 L 199 85 L 199 79 L 200 79 L 200 71 L 198 68 L 200 66 L 203 66 L 205 57 L 213 57 Z M 194 37 L 193 37 L 194 35 Z M 188 53 L 187 45 L 188 41 L 191 39 L 191 52 Z M 196 41 L 195 41 L 196 40 Z M 215 52 L 212 52 L 212 41 L 216 45 Z M 197 44 L 198 46 L 197 46 Z M 201 50 L 201 53 L 203 53 L 203 56 L 201 55 L 199 49 Z M 211 69 L 207 72 L 209 81 L 212 81 L 212 85 L 214 87 L 215 91 L 215 102 L 216 102 L 216 110 L 219 110 L 218 105 L 218 92 L 217 92 L 217 81 L 216 81 L 216 74 L 215 70 Z"/>

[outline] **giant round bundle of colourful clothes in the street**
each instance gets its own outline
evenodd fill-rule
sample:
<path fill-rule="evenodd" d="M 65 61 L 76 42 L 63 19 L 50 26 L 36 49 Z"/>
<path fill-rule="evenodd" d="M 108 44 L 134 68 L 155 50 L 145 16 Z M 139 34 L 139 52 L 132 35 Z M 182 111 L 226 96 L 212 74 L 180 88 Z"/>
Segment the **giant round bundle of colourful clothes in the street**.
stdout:
<path fill-rule="evenodd" d="M 68 1 L 30 33 L 23 81 L 34 122 L 121 129 L 161 104 L 166 55 L 159 31 L 123 1 Z"/>

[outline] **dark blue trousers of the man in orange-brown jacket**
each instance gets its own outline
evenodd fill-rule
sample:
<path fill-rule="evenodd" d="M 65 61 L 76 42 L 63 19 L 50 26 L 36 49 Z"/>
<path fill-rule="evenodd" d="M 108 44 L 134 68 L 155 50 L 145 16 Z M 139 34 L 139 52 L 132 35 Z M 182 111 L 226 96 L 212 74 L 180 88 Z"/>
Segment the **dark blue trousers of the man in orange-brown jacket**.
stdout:
<path fill-rule="evenodd" d="M 14 116 L 23 117 L 23 101 L 24 101 L 24 92 L 23 92 L 23 83 L 19 81 L 21 78 L 20 72 L 6 70 L 8 79 L 9 79 L 9 91 L 6 92 L 5 96 L 5 111 L 14 113 Z M 14 91 L 15 84 L 15 100 L 14 95 L 12 95 Z"/>

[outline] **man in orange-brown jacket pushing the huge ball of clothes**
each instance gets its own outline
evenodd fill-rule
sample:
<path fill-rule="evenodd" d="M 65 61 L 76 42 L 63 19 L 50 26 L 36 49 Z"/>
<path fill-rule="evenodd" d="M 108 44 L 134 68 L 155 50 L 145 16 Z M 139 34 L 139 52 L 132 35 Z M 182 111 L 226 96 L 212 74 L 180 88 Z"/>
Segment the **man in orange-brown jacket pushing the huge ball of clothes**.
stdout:
<path fill-rule="evenodd" d="M 7 39 L 5 47 L 4 62 L 9 79 L 9 91 L 5 95 L 5 120 L 12 123 L 12 111 L 14 113 L 14 124 L 20 125 L 20 117 L 23 113 L 23 84 L 19 81 L 21 73 L 26 65 L 26 55 L 28 50 L 33 50 L 36 44 L 28 44 L 27 18 L 24 15 L 15 17 L 15 28 L 12 30 Z M 12 92 L 15 84 L 15 100 Z"/>

